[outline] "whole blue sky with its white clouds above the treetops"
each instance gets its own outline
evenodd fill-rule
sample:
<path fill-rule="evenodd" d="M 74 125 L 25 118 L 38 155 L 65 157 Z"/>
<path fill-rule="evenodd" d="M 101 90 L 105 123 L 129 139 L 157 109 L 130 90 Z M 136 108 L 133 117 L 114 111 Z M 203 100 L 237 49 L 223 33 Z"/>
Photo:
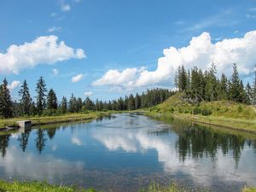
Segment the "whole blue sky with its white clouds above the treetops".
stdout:
<path fill-rule="evenodd" d="M 244 83 L 256 64 L 255 0 L 0 0 L 0 80 L 14 100 L 40 76 L 61 99 L 173 89 L 179 65 Z"/>

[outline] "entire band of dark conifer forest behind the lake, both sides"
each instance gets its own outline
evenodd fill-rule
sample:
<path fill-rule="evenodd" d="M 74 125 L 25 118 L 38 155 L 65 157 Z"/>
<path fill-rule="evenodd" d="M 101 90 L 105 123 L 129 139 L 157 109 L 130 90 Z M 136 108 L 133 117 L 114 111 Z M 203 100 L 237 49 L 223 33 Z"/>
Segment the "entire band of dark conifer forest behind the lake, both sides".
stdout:
<path fill-rule="evenodd" d="M 177 90 L 184 92 L 189 102 L 229 100 L 254 105 L 256 104 L 256 71 L 254 75 L 253 84 L 244 85 L 239 77 L 236 64 L 234 64 L 233 73 L 229 79 L 224 73 L 218 79 L 216 65 L 212 63 L 210 69 L 204 72 L 197 67 L 186 70 L 180 66 L 177 68 L 174 81 Z M 61 101 L 58 101 L 55 90 L 47 90 L 43 77 L 38 79 L 35 90 L 37 96 L 33 100 L 28 84 L 24 80 L 19 90 L 19 101 L 13 101 L 8 88 L 8 81 L 3 79 L 3 84 L 0 86 L 0 117 L 50 116 L 63 113 L 80 113 L 87 110 L 137 110 L 160 104 L 177 92 L 176 90 L 156 88 L 147 90 L 142 94 L 137 93 L 135 96 L 131 94 L 108 102 L 98 99 L 93 102 L 90 97 L 86 97 L 83 101 L 81 97 L 77 98 L 72 94 L 69 99 L 63 96 Z"/>

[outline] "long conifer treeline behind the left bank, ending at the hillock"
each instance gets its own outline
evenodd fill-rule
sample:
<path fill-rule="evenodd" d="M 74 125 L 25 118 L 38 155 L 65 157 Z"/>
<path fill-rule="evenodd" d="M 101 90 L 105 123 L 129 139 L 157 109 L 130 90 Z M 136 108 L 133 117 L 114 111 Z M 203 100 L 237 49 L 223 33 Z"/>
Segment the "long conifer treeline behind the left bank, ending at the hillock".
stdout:
<path fill-rule="evenodd" d="M 63 113 L 79 113 L 87 110 L 104 111 L 104 110 L 135 110 L 139 108 L 149 108 L 160 102 L 164 102 L 169 96 L 174 94 L 171 90 L 154 89 L 147 90 L 143 94 L 120 97 L 117 100 L 102 102 L 98 99 L 96 102 L 86 97 L 83 101 L 81 97 L 75 97 L 73 94 L 67 100 L 63 96 L 58 102 L 55 90 L 46 89 L 43 77 L 38 79 L 36 84 L 37 96 L 32 99 L 26 80 L 20 86 L 18 102 L 13 102 L 8 88 L 8 82 L 3 79 L 0 85 L 0 117 L 11 118 L 19 116 L 34 115 L 56 115 Z"/>

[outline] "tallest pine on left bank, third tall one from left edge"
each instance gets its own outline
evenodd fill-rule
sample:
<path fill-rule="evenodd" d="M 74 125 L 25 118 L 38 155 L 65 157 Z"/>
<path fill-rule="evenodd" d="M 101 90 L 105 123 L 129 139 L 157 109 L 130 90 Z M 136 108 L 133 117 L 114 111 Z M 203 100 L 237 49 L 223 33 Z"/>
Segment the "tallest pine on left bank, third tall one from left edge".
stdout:
<path fill-rule="evenodd" d="M 47 92 L 46 84 L 45 84 L 45 81 L 42 76 L 38 79 L 36 91 L 38 93 L 38 96 L 37 96 L 38 114 L 42 114 L 42 112 L 45 108 L 45 96 L 46 96 L 46 92 Z"/>

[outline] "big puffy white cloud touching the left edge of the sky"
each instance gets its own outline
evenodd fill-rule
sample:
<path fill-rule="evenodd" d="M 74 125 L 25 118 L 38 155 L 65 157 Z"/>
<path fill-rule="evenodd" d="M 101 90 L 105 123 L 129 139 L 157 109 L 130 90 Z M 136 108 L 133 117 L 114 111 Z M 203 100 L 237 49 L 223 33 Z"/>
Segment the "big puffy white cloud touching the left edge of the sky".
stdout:
<path fill-rule="evenodd" d="M 83 49 L 68 47 L 54 35 L 41 36 L 32 43 L 12 44 L 6 53 L 0 53 L 0 73 L 19 73 L 20 69 L 38 64 L 54 64 L 69 59 L 83 59 Z"/>

